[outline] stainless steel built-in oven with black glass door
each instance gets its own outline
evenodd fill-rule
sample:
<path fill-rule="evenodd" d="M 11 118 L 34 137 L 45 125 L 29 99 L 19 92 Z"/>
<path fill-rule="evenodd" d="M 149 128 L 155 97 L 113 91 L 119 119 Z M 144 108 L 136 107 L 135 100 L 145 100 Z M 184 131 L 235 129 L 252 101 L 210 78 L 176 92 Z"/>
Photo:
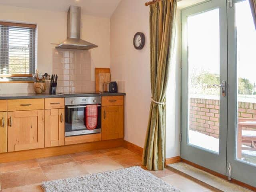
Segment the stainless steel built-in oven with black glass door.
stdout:
<path fill-rule="evenodd" d="M 97 105 L 97 125 L 93 130 L 86 128 L 86 107 Z M 95 134 L 101 132 L 101 97 L 65 98 L 65 136 Z"/>

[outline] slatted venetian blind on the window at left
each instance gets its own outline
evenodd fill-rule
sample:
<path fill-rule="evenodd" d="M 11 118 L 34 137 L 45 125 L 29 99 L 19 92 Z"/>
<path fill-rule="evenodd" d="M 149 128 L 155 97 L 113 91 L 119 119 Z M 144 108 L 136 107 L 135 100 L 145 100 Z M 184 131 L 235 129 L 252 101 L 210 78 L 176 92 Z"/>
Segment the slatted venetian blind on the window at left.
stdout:
<path fill-rule="evenodd" d="M 0 74 L 2 76 L 34 74 L 35 38 L 35 27 L 27 27 L 26 24 L 10 26 L 0 23 Z"/>

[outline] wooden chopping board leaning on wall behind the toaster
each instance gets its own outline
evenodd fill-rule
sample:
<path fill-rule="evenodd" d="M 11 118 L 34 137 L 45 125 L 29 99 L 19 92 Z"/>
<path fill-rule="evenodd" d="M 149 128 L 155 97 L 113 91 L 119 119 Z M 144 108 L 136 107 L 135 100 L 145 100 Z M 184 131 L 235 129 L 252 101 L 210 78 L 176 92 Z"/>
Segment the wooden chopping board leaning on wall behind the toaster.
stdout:
<path fill-rule="evenodd" d="M 103 92 L 104 82 L 111 81 L 110 68 L 95 68 L 95 86 L 96 92 Z"/>

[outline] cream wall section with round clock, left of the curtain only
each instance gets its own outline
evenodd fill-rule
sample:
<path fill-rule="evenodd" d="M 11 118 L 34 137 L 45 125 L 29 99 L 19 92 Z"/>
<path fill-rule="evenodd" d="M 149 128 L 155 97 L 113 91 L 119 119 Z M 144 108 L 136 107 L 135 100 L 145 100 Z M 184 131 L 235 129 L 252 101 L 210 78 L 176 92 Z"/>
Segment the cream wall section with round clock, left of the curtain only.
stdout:
<path fill-rule="evenodd" d="M 110 68 L 113 80 L 125 81 L 124 139 L 140 147 L 150 108 L 149 7 L 144 0 L 122 0 L 110 18 Z M 133 46 L 136 32 L 143 32 L 142 50 Z"/>

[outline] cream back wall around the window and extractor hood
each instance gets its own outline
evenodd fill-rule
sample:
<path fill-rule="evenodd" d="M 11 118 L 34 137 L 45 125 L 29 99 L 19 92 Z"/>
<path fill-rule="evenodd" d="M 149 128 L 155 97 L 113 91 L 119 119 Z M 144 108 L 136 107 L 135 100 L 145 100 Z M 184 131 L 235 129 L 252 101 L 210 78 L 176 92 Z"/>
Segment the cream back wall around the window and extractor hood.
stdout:
<path fill-rule="evenodd" d="M 0 6 L 0 20 L 37 24 L 37 68 L 40 72 L 51 74 L 52 49 L 56 46 L 55 44 L 66 39 L 67 12 Z M 81 21 L 81 38 L 99 46 L 89 51 L 92 58 L 91 77 L 94 80 L 94 67 L 110 67 L 110 19 L 82 15 Z M 6 93 L 6 86 L 0 84 L 2 93 Z M 11 86 L 24 87 L 29 85 L 15 84 Z M 8 92 L 11 93 L 10 91 L 9 89 Z M 24 91 L 27 92 L 28 90 Z"/>

